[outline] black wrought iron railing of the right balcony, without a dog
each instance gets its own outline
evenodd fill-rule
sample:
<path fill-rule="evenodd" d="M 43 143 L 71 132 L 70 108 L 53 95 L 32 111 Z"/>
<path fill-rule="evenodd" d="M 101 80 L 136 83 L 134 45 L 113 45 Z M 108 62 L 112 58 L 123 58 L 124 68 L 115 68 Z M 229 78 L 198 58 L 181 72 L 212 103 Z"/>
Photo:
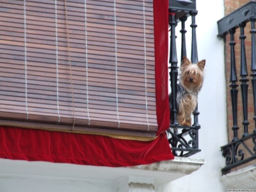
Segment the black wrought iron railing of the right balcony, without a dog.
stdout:
<path fill-rule="evenodd" d="M 225 38 L 230 35 L 230 98 L 232 106 L 232 124 L 233 139 L 227 145 L 221 147 L 223 156 L 226 158 L 226 166 L 222 169 L 223 174 L 230 172 L 232 168 L 240 166 L 241 164 L 248 163 L 256 159 L 256 2 L 251 1 L 244 4 L 241 8 L 230 13 L 223 19 L 218 20 L 218 36 Z M 246 45 L 244 35 L 244 28 L 246 23 L 251 24 L 251 40 L 252 40 L 252 52 L 251 52 L 251 71 L 252 78 L 248 78 L 248 70 L 246 63 Z M 243 106 L 243 134 L 239 138 L 238 131 L 239 125 L 237 124 L 237 70 L 236 70 L 236 51 L 235 51 L 235 38 L 236 31 L 240 31 L 240 79 L 241 82 L 241 100 Z M 248 131 L 248 87 L 252 86 L 252 94 L 254 101 L 254 117 L 255 121 L 254 130 Z"/>

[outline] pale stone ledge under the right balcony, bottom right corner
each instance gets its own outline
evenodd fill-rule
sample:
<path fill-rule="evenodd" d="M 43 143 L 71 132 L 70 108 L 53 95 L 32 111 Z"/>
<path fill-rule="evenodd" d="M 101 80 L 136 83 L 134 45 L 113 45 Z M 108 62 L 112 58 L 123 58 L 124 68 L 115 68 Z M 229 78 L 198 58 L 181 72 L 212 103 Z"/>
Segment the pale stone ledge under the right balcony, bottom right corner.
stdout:
<path fill-rule="evenodd" d="M 220 181 L 226 189 L 256 189 L 256 164 L 222 175 Z"/>

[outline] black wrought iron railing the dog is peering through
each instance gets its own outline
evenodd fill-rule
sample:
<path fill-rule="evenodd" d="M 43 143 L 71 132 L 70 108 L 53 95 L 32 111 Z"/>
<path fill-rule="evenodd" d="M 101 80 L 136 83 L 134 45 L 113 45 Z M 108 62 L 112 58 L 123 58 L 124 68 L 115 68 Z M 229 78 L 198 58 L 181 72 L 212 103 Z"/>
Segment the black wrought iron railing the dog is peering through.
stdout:
<path fill-rule="evenodd" d="M 192 31 L 192 42 L 191 42 L 191 61 L 192 63 L 198 63 L 198 53 L 196 45 L 196 22 L 195 17 L 196 11 L 196 0 L 169 0 L 169 24 L 171 27 L 170 36 L 170 83 L 172 88 L 172 95 L 170 99 L 170 113 L 171 113 L 171 124 L 168 133 L 170 138 L 168 139 L 170 145 L 172 145 L 172 152 L 174 156 L 189 157 L 197 152 L 200 152 L 198 148 L 198 130 L 200 124 L 198 123 L 198 108 L 196 107 L 193 112 L 194 124 L 192 126 L 180 125 L 177 122 L 177 77 L 178 77 L 178 59 L 176 49 L 176 35 L 175 29 L 177 22 L 181 22 L 180 33 L 182 36 L 181 41 L 181 60 L 184 56 L 187 56 L 186 52 L 186 29 L 185 22 L 188 17 L 191 17 L 191 31 Z"/>

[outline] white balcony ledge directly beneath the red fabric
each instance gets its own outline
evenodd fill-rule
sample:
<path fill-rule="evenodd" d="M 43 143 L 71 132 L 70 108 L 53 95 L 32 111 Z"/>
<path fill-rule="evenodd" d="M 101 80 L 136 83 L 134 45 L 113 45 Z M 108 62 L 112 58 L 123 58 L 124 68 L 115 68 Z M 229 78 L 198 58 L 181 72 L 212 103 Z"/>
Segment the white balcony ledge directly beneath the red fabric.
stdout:
<path fill-rule="evenodd" d="M 143 180 L 151 180 L 154 185 L 162 185 L 195 172 L 202 164 L 205 164 L 204 159 L 185 157 L 175 157 L 172 161 L 120 168 L 0 159 L 0 180 L 8 176 L 13 179 L 13 182 L 20 177 L 33 182 L 35 178 L 51 177 L 53 180 L 95 180 L 94 182 L 104 180 L 111 184 L 121 178 L 132 177 L 142 179 L 142 181 L 137 179 L 136 182 L 143 183 Z"/>

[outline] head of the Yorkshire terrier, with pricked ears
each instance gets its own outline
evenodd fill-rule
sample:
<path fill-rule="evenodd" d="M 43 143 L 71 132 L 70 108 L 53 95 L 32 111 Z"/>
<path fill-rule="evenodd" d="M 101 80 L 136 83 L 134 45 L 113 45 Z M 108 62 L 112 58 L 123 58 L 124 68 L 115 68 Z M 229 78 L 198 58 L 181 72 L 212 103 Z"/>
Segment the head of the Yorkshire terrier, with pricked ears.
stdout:
<path fill-rule="evenodd" d="M 197 64 L 191 63 L 184 57 L 180 66 L 180 83 L 190 93 L 196 93 L 202 88 L 204 81 L 205 60 Z"/>

